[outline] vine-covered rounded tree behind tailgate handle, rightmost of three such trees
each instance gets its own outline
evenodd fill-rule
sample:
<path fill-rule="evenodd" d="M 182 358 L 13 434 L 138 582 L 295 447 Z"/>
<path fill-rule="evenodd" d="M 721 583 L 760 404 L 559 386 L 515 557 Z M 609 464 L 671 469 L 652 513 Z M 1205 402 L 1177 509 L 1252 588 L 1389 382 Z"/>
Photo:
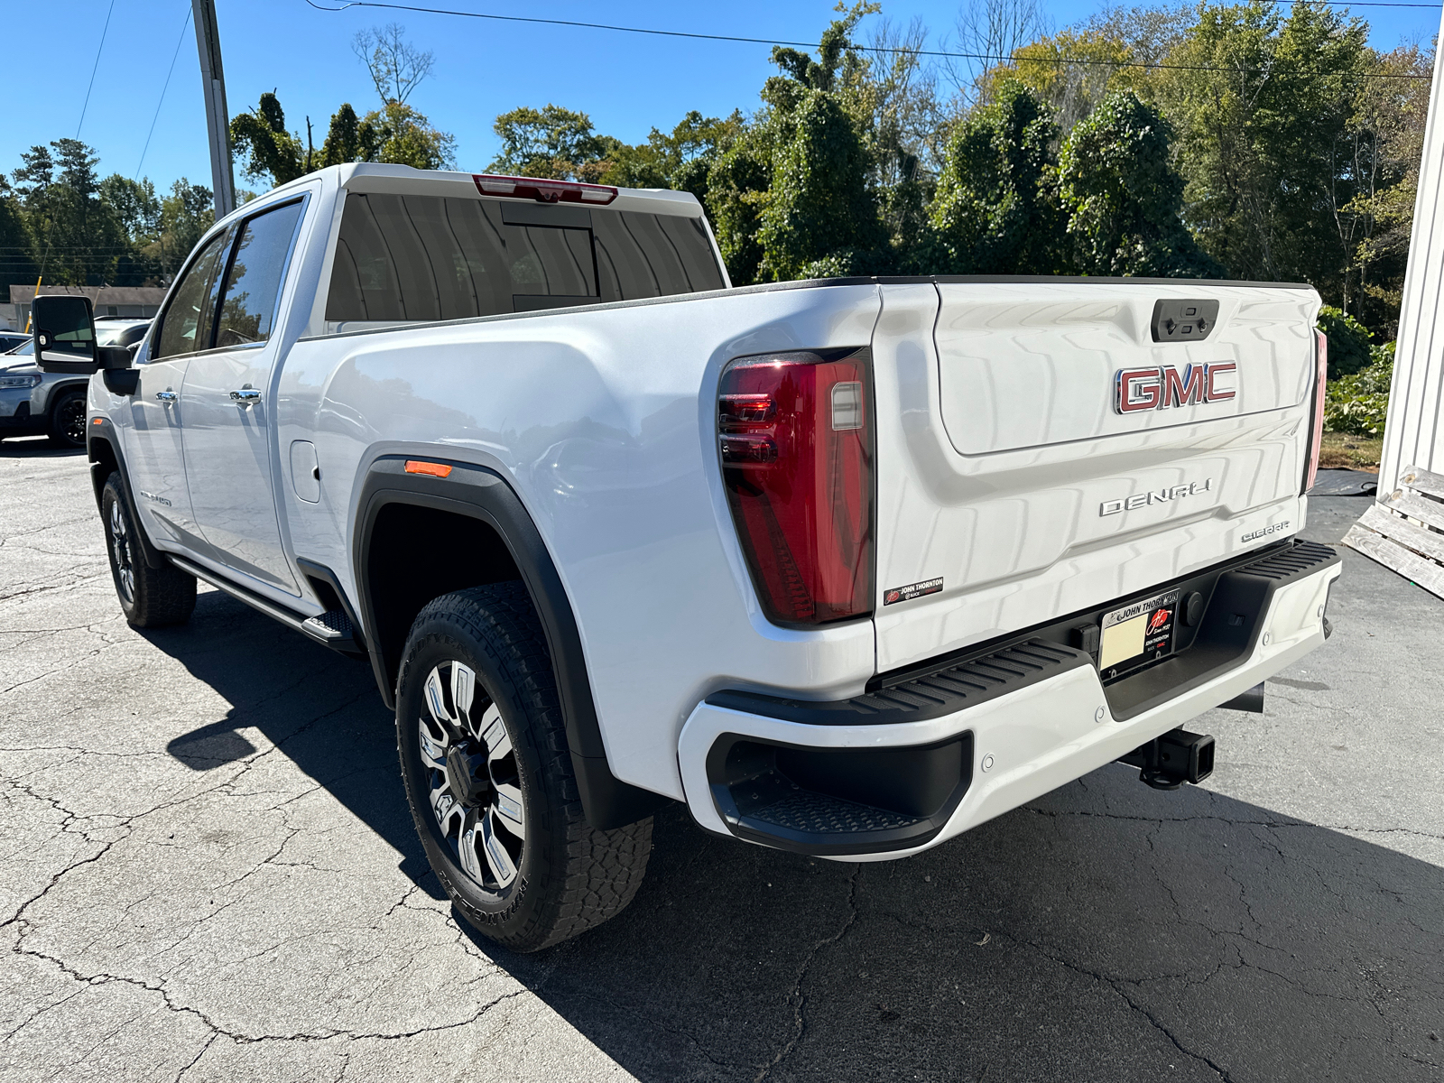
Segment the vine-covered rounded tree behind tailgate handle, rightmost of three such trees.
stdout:
<path fill-rule="evenodd" d="M 1183 178 L 1171 126 L 1132 91 L 1113 91 L 1069 134 L 1058 195 L 1084 274 L 1222 277 L 1178 217 Z"/>

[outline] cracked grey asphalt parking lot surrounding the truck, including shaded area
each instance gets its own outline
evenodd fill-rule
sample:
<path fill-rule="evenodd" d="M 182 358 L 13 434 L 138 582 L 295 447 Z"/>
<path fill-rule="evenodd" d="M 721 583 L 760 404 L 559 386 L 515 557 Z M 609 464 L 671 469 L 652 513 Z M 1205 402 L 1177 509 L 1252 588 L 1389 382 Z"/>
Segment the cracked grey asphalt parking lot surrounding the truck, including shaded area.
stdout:
<path fill-rule="evenodd" d="M 1113 765 L 866 866 L 674 809 L 630 910 L 514 956 L 370 671 L 205 586 L 129 628 L 84 455 L 4 442 L 0 1079 L 1440 1080 L 1444 602 L 1344 562 L 1203 787 Z"/>

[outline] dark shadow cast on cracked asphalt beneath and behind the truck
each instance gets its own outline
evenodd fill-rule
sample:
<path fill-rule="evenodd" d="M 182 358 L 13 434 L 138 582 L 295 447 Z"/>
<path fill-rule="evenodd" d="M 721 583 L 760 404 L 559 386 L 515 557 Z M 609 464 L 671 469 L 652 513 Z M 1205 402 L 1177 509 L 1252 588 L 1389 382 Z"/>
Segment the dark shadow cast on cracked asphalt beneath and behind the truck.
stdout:
<path fill-rule="evenodd" d="M 254 726 L 439 897 L 365 666 L 218 592 L 146 637 L 232 703 L 172 755 L 243 760 Z M 654 842 L 606 926 L 536 956 L 471 934 L 641 1080 L 1444 1071 L 1444 871 L 1206 788 L 1115 765 L 902 862 L 716 839 L 676 806 Z"/>

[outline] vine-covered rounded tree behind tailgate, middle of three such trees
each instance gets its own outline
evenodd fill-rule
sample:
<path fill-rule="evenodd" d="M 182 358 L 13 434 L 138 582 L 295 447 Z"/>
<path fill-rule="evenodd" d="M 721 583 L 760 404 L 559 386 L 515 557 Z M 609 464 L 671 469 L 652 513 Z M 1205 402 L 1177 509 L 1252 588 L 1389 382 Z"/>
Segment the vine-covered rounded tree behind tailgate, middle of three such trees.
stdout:
<path fill-rule="evenodd" d="M 931 237 L 913 256 L 924 273 L 1053 274 L 1067 269 L 1056 185 L 1058 126 L 1017 79 L 998 84 L 947 144 Z"/>

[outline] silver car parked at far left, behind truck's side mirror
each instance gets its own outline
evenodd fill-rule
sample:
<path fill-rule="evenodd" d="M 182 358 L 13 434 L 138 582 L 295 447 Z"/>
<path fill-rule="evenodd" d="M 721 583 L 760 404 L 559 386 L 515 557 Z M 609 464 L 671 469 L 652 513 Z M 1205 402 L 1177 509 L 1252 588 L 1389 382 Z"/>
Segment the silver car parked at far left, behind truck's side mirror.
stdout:
<path fill-rule="evenodd" d="M 149 329 L 149 319 L 101 316 L 95 321 L 95 342 L 133 347 Z M 10 352 L 0 354 L 0 440 L 49 436 L 55 448 L 84 448 L 85 377 L 42 373 L 33 354 L 29 335 L 22 335 L 20 345 Z"/>

